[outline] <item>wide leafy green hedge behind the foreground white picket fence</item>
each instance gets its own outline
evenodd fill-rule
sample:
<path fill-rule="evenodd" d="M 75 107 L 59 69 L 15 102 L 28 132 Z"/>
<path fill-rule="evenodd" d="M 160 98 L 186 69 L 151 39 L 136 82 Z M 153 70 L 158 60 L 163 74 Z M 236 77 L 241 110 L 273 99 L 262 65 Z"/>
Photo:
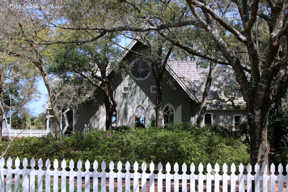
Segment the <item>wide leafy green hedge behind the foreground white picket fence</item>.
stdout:
<path fill-rule="evenodd" d="M 248 145 L 223 131 L 215 133 L 209 131 L 211 127 L 197 128 L 190 123 L 177 123 L 150 129 L 128 129 L 118 127 L 119 131 L 92 130 L 90 134 L 76 132 L 71 137 L 32 138 L 22 137 L 15 140 L 4 158 L 26 157 L 29 161 L 33 157 L 43 161 L 58 159 L 74 162 L 118 162 L 135 161 L 155 164 L 202 164 L 207 165 L 227 163 L 236 165 L 250 162 L 247 153 Z M 215 128 L 211 128 L 214 129 Z M 216 129 L 218 130 L 218 129 Z M 0 150 L 4 151 L 4 143 Z"/>

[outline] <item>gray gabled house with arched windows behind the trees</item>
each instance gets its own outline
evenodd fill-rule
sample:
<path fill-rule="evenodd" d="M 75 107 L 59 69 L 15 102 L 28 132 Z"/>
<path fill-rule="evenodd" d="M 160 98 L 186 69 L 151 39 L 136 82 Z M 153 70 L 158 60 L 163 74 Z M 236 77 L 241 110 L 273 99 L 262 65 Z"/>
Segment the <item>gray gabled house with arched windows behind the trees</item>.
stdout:
<path fill-rule="evenodd" d="M 135 43 L 130 44 L 130 48 L 134 45 Z M 146 62 L 131 52 L 126 51 L 122 59 L 131 63 L 130 73 L 123 77 L 122 74 L 109 71 L 108 75 L 117 103 L 113 126 L 132 125 L 135 116 L 146 125 L 148 119 L 155 115 L 154 76 L 151 70 L 146 69 Z M 209 69 L 196 68 L 195 61 L 171 61 L 166 70 L 162 88 L 164 123 L 196 122 L 205 76 Z M 91 90 L 95 94 L 95 100 L 79 104 L 78 110 L 73 112 L 71 131 L 85 131 L 85 125 L 90 129 L 105 129 L 106 112 L 102 92 L 95 87 Z M 239 122 L 247 119 L 246 103 L 231 69 L 219 69 L 215 72 L 208 99 L 203 125 L 238 126 Z"/>

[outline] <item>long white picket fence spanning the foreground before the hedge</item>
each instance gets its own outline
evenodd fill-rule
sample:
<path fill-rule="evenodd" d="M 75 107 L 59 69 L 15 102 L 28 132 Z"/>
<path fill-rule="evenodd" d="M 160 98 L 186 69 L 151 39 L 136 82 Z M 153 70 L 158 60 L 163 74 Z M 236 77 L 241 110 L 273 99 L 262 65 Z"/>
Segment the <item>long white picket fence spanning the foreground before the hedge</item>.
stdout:
<path fill-rule="evenodd" d="M 190 165 L 190 170 L 187 170 L 186 164 L 182 165 L 182 174 L 179 174 L 179 165 L 176 163 L 174 165 L 174 174 L 171 174 L 171 166 L 169 163 L 166 165 L 166 174 L 162 173 L 163 170 L 163 165 L 161 163 L 158 164 L 158 167 L 156 170 L 159 171 L 158 174 L 153 173 L 155 170 L 155 165 L 152 162 L 150 164 L 150 173 L 146 173 L 146 168 L 147 165 L 145 162 L 142 163 L 141 170 L 142 173 L 138 173 L 137 170 L 139 170 L 139 165 L 137 162 L 134 163 L 132 170 L 134 170 L 134 173 L 130 173 L 129 170 L 131 170 L 130 163 L 127 162 L 125 164 L 125 170 L 126 173 L 122 173 L 122 163 L 119 161 L 117 164 L 117 170 L 118 172 L 115 173 L 113 171 L 114 163 L 111 161 L 109 163 L 109 169 L 110 171 L 108 173 L 105 172 L 106 169 L 106 163 L 103 161 L 101 163 L 101 166 L 98 166 L 98 162 L 94 161 L 93 163 L 93 172 L 89 171 L 90 168 L 90 162 L 86 161 L 85 162 L 85 172 L 81 171 L 82 168 L 82 162 L 78 161 L 77 162 L 77 169 L 78 171 L 73 171 L 74 168 L 74 162 L 71 160 L 69 162 L 69 168 L 70 171 L 66 171 L 66 161 L 63 160 L 61 162 L 61 168 L 62 170 L 59 171 L 57 168 L 59 166 L 58 161 L 55 160 L 53 162 L 53 167 L 54 170 L 42 170 L 43 167 L 43 161 L 40 159 L 38 161 L 38 170 L 35 170 L 35 160 L 32 159 L 30 162 L 30 167 L 31 169 L 27 169 L 28 166 L 28 161 L 25 158 L 23 161 L 23 169 L 19 169 L 20 166 L 20 160 L 17 158 L 15 160 L 15 169 L 12 169 L 12 159 L 9 158 L 7 160 L 7 169 L 4 169 L 5 161 L 4 158 L 0 159 L 0 192 L 4 192 L 4 188 L 6 189 L 7 192 L 12 191 L 12 180 L 15 180 L 15 191 L 19 190 L 19 186 L 22 183 L 22 189 L 24 192 L 30 191 L 34 192 L 35 191 L 35 185 L 37 184 L 38 189 L 43 189 L 43 178 L 45 178 L 45 186 L 50 186 L 50 184 L 53 185 L 51 191 L 57 192 L 58 191 L 58 182 L 61 183 L 61 192 L 66 192 L 66 184 L 69 185 L 69 191 L 74 192 L 74 178 L 76 177 L 76 183 L 77 183 L 77 191 L 85 191 L 89 192 L 90 191 L 90 185 L 92 183 L 93 186 L 93 192 L 98 192 L 98 184 L 101 186 L 101 192 L 106 192 L 109 190 L 109 192 L 117 191 L 117 192 L 122 192 L 123 188 L 125 188 L 126 192 L 130 192 L 130 185 L 133 182 L 133 191 L 134 192 L 139 192 L 140 190 L 142 191 L 147 191 L 149 190 L 150 192 L 158 191 L 162 192 L 163 191 L 163 184 L 165 184 L 165 191 L 170 192 L 171 191 L 171 181 L 174 182 L 174 192 L 179 192 L 179 184 L 182 185 L 181 190 L 183 192 L 187 191 L 187 187 L 190 186 L 190 191 L 195 191 L 195 184 L 198 184 L 198 191 L 203 192 L 204 186 L 206 187 L 206 191 L 211 191 L 212 185 L 215 188 L 215 191 L 219 191 L 220 189 L 220 181 L 222 182 L 223 186 L 223 191 L 227 192 L 228 191 L 228 181 L 231 181 L 230 183 L 230 191 L 235 192 L 236 190 L 236 183 L 239 185 L 239 191 L 244 192 L 245 187 L 247 188 L 247 191 L 252 191 L 251 186 L 252 186 L 252 181 L 255 181 L 255 191 L 259 192 L 259 187 L 260 187 L 260 181 L 263 181 L 263 192 L 268 190 L 268 181 L 271 181 L 271 191 L 275 191 L 275 181 L 278 181 L 278 191 L 283 191 L 283 181 L 287 181 L 288 176 L 283 176 L 283 166 L 280 164 L 278 166 L 278 175 L 274 175 L 275 172 L 275 166 L 274 164 L 271 165 L 270 167 L 270 172 L 272 173 L 271 175 L 266 175 L 264 173 L 263 176 L 259 175 L 259 165 L 255 166 L 255 172 L 256 175 L 251 175 L 252 171 L 252 166 L 250 164 L 247 165 L 247 175 L 244 175 L 244 166 L 240 164 L 239 166 L 239 174 L 235 175 L 236 171 L 236 166 L 232 164 L 230 167 L 232 174 L 227 175 L 228 171 L 228 166 L 226 164 L 223 165 L 223 175 L 219 175 L 218 172 L 220 171 L 220 167 L 218 164 L 215 165 L 214 169 L 212 169 L 211 165 L 207 165 L 207 174 L 202 174 L 203 172 L 203 165 L 200 164 L 198 167 L 199 174 L 195 175 L 195 165 L 191 164 Z M 50 167 L 51 162 L 49 160 L 46 161 L 45 167 Z M 264 164 L 263 166 L 264 170 L 268 170 L 268 167 Z M 98 172 L 97 169 L 102 169 L 101 172 Z M 286 166 L 286 170 L 288 169 L 288 165 Z M 186 171 L 190 171 L 191 174 L 186 174 Z M 22 176 L 22 179 L 20 179 L 20 175 Z M 6 176 L 6 178 L 5 178 Z M 35 177 L 36 176 L 36 177 Z M 85 188 L 82 189 L 82 178 L 85 178 L 83 181 L 85 183 Z M 125 184 L 122 186 L 122 181 L 124 182 L 125 179 Z M 20 180 L 22 182 L 20 182 Z M 106 182 L 109 180 L 109 187 L 106 187 Z M 132 181 L 133 180 L 133 181 Z M 5 183 L 6 181 L 6 183 Z M 117 184 L 114 186 L 114 182 L 117 182 Z M 148 182 L 149 181 L 149 182 Z M 165 182 L 164 182 L 165 181 Z M 245 184 L 246 181 L 246 184 Z M 155 182 L 158 185 L 158 189 L 155 189 Z M 188 185 L 187 185 L 188 184 Z M 149 188 L 148 188 L 149 187 Z M 109 188 L 109 189 L 107 189 Z M 46 192 L 50 192 L 50 187 L 45 188 Z"/>

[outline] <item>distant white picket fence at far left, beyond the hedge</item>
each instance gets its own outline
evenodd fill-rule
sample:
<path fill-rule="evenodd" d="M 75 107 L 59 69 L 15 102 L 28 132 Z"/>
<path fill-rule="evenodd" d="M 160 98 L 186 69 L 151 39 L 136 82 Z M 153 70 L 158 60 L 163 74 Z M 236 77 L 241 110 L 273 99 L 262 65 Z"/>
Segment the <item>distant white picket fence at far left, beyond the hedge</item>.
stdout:
<path fill-rule="evenodd" d="M 9 134 L 11 137 L 16 137 L 18 134 L 19 137 L 42 137 L 47 135 L 46 129 L 10 129 Z M 8 130 L 2 130 L 2 136 L 8 136 Z"/>

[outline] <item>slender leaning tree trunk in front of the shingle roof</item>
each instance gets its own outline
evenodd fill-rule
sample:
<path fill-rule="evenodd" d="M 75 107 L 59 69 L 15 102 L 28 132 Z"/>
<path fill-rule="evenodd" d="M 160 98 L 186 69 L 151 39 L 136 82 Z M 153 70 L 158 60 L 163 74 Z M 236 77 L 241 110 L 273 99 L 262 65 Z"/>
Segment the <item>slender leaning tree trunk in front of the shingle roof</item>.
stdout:
<path fill-rule="evenodd" d="M 197 126 L 198 127 L 202 127 L 202 122 L 204 119 L 204 113 L 205 113 L 205 110 L 207 108 L 206 105 L 207 105 L 207 100 L 208 100 L 208 93 L 209 93 L 209 90 L 211 87 L 212 74 L 213 74 L 215 66 L 216 66 L 216 63 L 210 61 L 210 69 L 209 69 L 208 77 L 206 80 L 205 88 L 203 91 L 203 97 L 202 97 L 202 101 L 201 101 L 201 105 L 200 105 L 200 110 L 199 110 L 199 113 L 197 116 Z"/>

